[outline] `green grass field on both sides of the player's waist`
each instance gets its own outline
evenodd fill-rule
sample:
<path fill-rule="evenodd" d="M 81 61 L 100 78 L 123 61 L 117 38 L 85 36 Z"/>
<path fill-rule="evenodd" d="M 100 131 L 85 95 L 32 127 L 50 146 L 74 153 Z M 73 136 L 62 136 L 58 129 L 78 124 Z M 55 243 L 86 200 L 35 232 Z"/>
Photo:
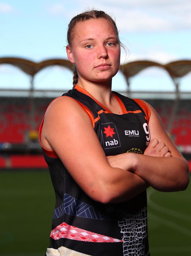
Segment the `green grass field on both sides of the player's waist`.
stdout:
<path fill-rule="evenodd" d="M 191 255 L 190 195 L 191 185 L 175 193 L 148 189 L 151 256 Z M 45 255 L 55 203 L 49 172 L 1 171 L 0 198 L 0 255 Z"/>

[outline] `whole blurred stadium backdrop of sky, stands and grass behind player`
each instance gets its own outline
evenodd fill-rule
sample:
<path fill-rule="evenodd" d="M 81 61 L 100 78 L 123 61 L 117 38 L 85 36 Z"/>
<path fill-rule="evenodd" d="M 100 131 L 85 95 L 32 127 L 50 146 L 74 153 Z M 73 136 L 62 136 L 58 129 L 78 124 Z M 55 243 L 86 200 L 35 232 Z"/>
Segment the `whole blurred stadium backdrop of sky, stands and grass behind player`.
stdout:
<path fill-rule="evenodd" d="M 128 48 L 113 90 L 155 108 L 191 170 L 189 0 L 0 0 L 0 255 L 49 246 L 55 196 L 38 130 L 49 103 L 73 87 L 67 26 L 87 8 L 115 17 Z M 152 256 L 191 255 L 190 193 L 148 189 Z"/>

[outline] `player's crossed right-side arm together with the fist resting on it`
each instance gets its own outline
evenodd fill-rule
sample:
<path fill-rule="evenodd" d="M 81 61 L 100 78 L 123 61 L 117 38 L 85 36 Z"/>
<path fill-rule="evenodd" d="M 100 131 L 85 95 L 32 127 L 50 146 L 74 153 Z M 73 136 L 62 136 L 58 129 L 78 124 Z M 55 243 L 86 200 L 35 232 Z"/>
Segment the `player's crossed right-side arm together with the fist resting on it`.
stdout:
<path fill-rule="evenodd" d="M 156 190 L 185 190 L 189 183 L 188 164 L 165 132 L 158 114 L 153 107 L 146 104 L 151 112 L 148 123 L 151 142 L 144 155 L 125 153 L 110 159 L 110 164 L 120 166 L 123 162 L 123 168 L 126 169 L 125 164 L 128 165 L 134 159 L 136 167 L 132 171 Z"/>

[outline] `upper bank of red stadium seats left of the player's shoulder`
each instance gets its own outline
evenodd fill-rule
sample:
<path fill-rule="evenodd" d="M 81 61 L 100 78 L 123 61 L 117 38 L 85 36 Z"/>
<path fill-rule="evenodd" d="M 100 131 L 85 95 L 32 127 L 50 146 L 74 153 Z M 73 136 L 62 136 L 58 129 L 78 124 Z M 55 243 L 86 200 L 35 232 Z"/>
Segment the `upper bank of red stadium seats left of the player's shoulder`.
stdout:
<path fill-rule="evenodd" d="M 35 101 L 33 129 L 38 131 L 46 107 L 51 100 L 35 99 Z M 16 97 L 10 102 L 10 99 L 3 97 L 0 104 L 0 143 L 25 143 L 27 139 L 25 135 L 31 130 L 32 123 L 29 99 Z"/>

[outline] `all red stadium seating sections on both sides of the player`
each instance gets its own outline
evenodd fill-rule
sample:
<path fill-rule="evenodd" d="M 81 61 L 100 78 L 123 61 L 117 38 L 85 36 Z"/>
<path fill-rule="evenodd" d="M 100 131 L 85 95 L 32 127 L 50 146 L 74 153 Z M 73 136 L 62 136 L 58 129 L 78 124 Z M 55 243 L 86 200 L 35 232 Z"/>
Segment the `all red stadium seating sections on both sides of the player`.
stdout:
<path fill-rule="evenodd" d="M 31 122 L 31 106 L 29 98 L 1 97 L 0 100 L 0 143 L 26 144 L 29 141 L 29 131 L 38 131 L 47 106 L 53 99 L 34 98 L 34 116 Z M 158 112 L 165 129 L 167 129 L 172 115 L 173 100 L 148 99 Z M 172 122 L 170 136 L 177 146 L 191 145 L 191 109 L 190 100 L 180 100 L 176 115 Z M 12 167 L 45 167 L 43 156 L 10 156 Z M 0 167 L 6 164 L 0 159 Z M 191 168 L 190 168 L 191 169 Z"/>

